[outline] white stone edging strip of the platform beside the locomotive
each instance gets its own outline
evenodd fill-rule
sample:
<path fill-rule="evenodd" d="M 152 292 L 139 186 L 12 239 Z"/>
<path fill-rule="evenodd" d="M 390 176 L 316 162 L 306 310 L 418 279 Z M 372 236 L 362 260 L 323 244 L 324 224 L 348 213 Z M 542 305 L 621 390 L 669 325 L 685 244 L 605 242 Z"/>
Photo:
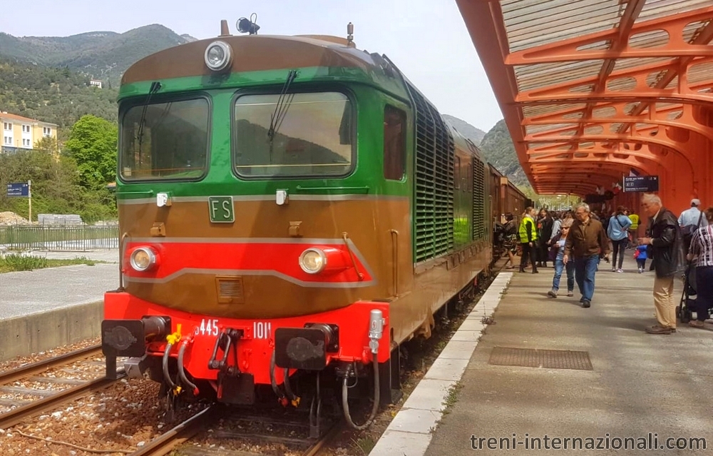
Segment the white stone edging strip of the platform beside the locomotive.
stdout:
<path fill-rule="evenodd" d="M 483 317 L 492 317 L 513 273 L 499 273 L 481 296 L 470 315 L 443 348 L 419 385 L 404 402 L 394 420 L 376 442 L 369 456 L 423 456 L 431 443 L 433 430 L 441 420 L 448 390 L 461 380 L 463 371 L 478 345 L 473 332 L 486 325 Z"/>

